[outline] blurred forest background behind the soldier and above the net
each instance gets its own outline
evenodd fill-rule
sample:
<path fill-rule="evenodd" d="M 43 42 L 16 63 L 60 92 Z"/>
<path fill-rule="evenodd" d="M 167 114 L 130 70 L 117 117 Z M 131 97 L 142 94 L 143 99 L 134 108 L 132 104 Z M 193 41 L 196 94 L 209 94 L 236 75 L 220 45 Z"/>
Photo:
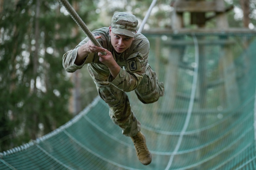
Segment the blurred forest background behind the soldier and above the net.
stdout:
<path fill-rule="evenodd" d="M 115 12 L 137 16 L 151 0 L 69 0 L 92 31 Z M 171 28 L 172 0 L 159 0 L 144 29 Z M 230 27 L 256 25 L 256 0 L 225 0 Z M 185 24 L 188 15 L 185 14 Z M 67 73 L 63 54 L 86 35 L 57 0 L 0 0 L 0 152 L 41 137 L 69 121 L 98 94 L 87 68 Z M 139 27 L 138 26 L 138 27 Z M 192 27 L 186 24 L 185 27 Z M 214 19 L 206 28 L 215 27 Z M 166 87 L 168 88 L 168 87 Z"/>

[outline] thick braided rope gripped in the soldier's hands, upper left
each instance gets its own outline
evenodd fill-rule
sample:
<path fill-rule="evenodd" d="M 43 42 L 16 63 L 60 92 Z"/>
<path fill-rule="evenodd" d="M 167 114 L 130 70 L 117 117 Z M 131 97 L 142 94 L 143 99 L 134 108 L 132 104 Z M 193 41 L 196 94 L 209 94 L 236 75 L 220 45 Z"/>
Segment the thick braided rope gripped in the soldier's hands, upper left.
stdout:
<path fill-rule="evenodd" d="M 74 19 L 74 21 L 77 23 L 77 25 L 83 30 L 83 32 L 87 35 L 87 37 L 93 42 L 93 44 L 97 47 L 102 47 L 100 43 L 96 40 L 96 38 L 93 36 L 91 31 L 87 28 L 83 20 L 79 17 L 77 12 L 72 8 L 70 3 L 67 0 L 59 0 L 59 2 L 66 8 L 66 10 L 69 12 L 70 16 Z M 101 53 L 102 55 L 107 55 L 106 52 Z"/>

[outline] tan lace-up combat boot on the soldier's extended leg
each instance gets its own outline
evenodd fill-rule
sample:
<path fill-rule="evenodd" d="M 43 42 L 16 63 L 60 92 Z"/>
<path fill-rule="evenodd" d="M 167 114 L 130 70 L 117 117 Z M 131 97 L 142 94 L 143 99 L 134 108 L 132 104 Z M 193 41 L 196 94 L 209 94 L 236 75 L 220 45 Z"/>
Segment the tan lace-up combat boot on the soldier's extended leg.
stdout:
<path fill-rule="evenodd" d="M 136 154 L 138 159 L 143 165 L 148 165 L 151 163 L 152 156 L 151 153 L 148 151 L 146 145 L 146 139 L 142 133 L 137 133 L 136 136 L 131 137 L 133 144 L 136 149 Z"/>

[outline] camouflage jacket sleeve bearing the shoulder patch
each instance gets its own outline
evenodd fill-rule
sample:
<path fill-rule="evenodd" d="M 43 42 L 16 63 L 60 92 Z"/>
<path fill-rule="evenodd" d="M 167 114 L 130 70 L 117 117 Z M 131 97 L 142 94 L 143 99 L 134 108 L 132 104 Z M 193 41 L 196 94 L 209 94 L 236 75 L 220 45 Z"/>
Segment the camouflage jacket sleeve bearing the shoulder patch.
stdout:
<path fill-rule="evenodd" d="M 126 69 L 120 69 L 118 76 L 113 79 L 110 75 L 108 82 L 124 92 L 134 90 L 141 82 L 148 67 L 149 42 L 144 40 L 143 45 L 126 60 Z"/>

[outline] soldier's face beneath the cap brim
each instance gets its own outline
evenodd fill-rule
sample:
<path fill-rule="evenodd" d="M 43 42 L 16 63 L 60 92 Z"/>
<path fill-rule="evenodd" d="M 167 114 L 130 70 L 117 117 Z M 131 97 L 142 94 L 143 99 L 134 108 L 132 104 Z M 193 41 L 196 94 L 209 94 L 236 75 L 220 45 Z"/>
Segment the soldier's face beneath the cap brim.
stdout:
<path fill-rule="evenodd" d="M 129 48 L 134 39 L 133 37 L 129 37 L 127 35 L 111 33 L 111 29 L 110 29 L 110 36 L 111 36 L 111 44 L 117 53 L 122 53 L 127 48 Z"/>

